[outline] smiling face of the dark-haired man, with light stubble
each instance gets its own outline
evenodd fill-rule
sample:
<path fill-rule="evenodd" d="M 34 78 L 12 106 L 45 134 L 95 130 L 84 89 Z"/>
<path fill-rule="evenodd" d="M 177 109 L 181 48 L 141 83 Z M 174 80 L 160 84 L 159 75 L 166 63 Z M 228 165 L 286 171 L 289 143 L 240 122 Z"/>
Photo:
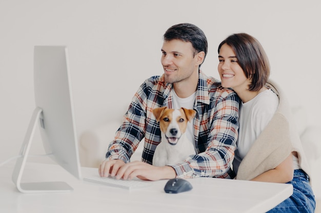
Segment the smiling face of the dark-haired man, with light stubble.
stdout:
<path fill-rule="evenodd" d="M 198 73 L 199 57 L 193 55 L 191 42 L 178 39 L 164 41 L 160 62 L 164 67 L 165 82 L 186 81 L 194 72 Z"/>

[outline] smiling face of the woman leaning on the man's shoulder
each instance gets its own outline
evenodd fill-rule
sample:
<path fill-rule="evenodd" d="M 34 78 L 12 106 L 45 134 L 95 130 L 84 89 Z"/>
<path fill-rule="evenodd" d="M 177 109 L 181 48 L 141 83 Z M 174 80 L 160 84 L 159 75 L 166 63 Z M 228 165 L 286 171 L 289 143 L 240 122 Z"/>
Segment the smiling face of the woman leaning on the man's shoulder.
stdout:
<path fill-rule="evenodd" d="M 236 92 L 249 88 L 250 80 L 237 62 L 236 54 L 228 44 L 223 44 L 218 55 L 218 73 L 223 87 L 232 88 Z"/>

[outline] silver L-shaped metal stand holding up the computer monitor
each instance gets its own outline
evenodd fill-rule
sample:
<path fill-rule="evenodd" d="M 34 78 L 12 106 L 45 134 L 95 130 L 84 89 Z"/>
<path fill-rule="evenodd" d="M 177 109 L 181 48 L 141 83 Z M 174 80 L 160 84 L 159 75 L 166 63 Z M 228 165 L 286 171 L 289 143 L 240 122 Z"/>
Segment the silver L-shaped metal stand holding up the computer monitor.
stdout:
<path fill-rule="evenodd" d="M 22 157 L 18 158 L 16 161 L 12 173 L 12 181 L 15 183 L 18 191 L 22 193 L 70 192 L 73 188 L 65 182 L 21 182 L 33 135 L 37 126 L 37 121 L 42 118 L 42 111 L 43 110 L 38 107 L 33 111 L 23 145 L 19 153 Z"/>

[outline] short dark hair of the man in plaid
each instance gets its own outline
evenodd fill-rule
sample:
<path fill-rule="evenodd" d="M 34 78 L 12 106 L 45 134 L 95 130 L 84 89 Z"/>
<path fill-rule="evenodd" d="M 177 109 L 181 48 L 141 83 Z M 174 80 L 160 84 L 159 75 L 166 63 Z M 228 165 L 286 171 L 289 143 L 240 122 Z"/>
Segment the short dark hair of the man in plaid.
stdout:
<path fill-rule="evenodd" d="M 205 53 L 204 60 L 207 54 L 207 38 L 202 30 L 191 23 L 179 23 L 170 27 L 163 36 L 164 41 L 179 39 L 186 42 L 191 42 L 194 48 L 193 57 L 203 51 Z M 204 62 L 203 60 L 203 62 Z M 199 64 L 199 66 L 202 64 Z"/>

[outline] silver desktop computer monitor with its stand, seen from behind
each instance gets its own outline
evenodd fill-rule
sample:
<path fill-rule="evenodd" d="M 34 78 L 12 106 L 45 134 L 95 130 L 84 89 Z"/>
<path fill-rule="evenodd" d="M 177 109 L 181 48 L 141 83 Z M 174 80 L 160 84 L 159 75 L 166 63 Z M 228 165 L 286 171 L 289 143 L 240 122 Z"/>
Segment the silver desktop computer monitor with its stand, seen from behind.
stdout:
<path fill-rule="evenodd" d="M 65 182 L 22 182 L 37 127 L 45 152 L 76 178 L 82 179 L 66 46 L 34 47 L 34 96 L 35 109 L 12 180 L 23 193 L 72 191 Z"/>

